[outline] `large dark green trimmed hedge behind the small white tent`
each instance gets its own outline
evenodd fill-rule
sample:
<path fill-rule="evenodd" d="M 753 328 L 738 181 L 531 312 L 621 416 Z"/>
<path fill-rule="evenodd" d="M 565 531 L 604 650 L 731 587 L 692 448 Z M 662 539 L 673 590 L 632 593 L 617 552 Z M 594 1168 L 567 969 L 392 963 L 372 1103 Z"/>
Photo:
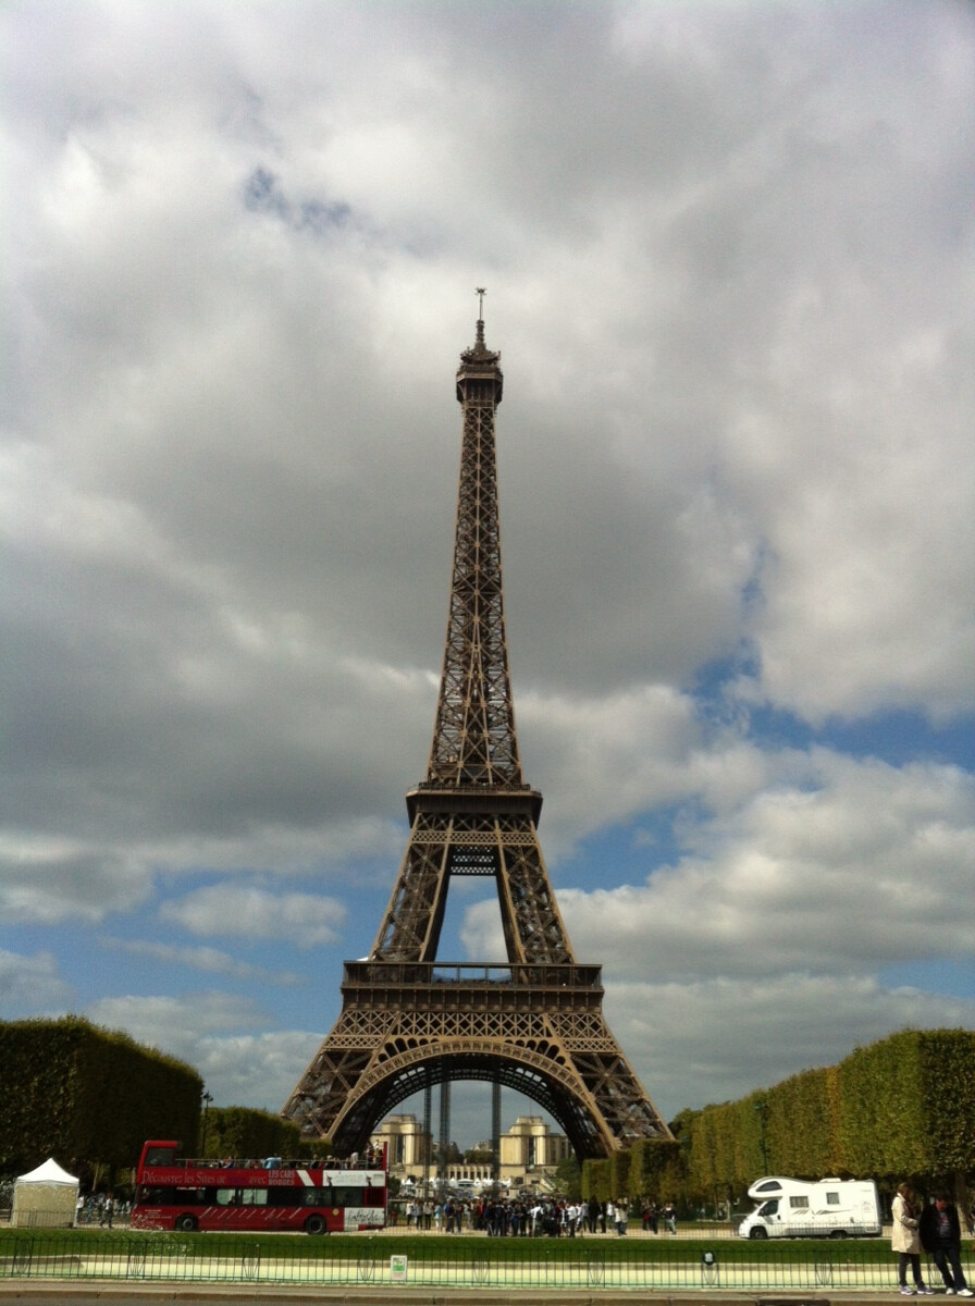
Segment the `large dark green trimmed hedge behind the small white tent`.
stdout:
<path fill-rule="evenodd" d="M 200 1075 L 77 1016 L 0 1024 L 0 1171 L 48 1156 L 68 1169 L 134 1166 L 149 1138 L 200 1128 Z"/>

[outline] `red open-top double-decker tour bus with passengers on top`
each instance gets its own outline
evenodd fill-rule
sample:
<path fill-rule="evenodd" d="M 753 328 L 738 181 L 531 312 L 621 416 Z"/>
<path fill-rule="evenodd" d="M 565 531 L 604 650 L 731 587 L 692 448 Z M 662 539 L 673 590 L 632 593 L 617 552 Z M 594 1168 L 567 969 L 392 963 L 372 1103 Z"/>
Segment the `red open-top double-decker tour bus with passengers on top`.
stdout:
<path fill-rule="evenodd" d="M 347 1161 L 185 1160 L 150 1141 L 136 1173 L 133 1229 L 351 1233 L 386 1222 L 385 1153 Z"/>

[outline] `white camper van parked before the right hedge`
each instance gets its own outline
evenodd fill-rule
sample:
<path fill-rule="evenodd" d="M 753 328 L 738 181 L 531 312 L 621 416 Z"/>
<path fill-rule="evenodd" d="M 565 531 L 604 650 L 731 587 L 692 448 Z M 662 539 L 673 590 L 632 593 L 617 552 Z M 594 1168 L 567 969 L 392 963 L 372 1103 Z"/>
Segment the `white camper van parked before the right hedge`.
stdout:
<path fill-rule="evenodd" d="M 877 1185 L 868 1179 L 756 1179 L 748 1196 L 758 1203 L 737 1226 L 741 1238 L 876 1238 Z"/>

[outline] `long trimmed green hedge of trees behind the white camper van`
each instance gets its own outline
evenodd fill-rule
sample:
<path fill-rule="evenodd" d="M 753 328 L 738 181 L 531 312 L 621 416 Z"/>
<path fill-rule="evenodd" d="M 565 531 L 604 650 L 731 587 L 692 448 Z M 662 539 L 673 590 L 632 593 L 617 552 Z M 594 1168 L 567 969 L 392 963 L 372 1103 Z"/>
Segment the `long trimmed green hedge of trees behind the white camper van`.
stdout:
<path fill-rule="evenodd" d="M 673 1144 L 640 1143 L 586 1162 L 583 1191 L 684 1208 L 737 1202 L 762 1174 L 901 1179 L 966 1191 L 975 1175 L 975 1032 L 912 1029 L 858 1047 L 736 1102 L 683 1111 Z M 602 1168 L 600 1168 L 602 1166 Z M 627 1187 L 617 1188 L 623 1175 Z"/>

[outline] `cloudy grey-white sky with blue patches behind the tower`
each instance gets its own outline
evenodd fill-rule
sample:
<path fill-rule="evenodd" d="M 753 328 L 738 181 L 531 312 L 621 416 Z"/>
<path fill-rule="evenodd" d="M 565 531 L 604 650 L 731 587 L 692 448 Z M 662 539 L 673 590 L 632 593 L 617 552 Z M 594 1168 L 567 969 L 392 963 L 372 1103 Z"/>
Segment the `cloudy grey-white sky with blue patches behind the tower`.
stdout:
<path fill-rule="evenodd" d="M 522 760 L 650 1096 L 975 1028 L 975 10 L 0 21 L 0 1016 L 294 1088 L 426 771 L 484 285 Z M 440 957 L 503 953 L 458 882 Z"/>

